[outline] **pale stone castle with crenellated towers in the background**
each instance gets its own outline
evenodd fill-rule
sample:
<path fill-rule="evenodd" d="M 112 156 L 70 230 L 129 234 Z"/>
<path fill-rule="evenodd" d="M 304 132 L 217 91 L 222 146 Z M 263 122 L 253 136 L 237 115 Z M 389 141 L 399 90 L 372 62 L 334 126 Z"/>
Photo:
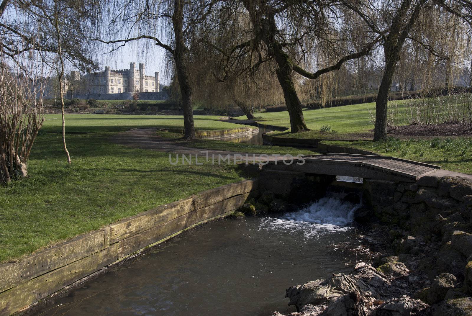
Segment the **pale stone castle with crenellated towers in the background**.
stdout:
<path fill-rule="evenodd" d="M 160 92 L 159 72 L 154 76 L 144 73 L 144 64 L 130 62 L 129 69 L 110 69 L 89 72 L 81 76 L 78 71 L 71 71 L 67 97 L 79 99 L 131 99 L 139 92 L 142 100 L 165 100 L 167 95 Z M 75 90 L 75 91 L 74 91 Z"/>

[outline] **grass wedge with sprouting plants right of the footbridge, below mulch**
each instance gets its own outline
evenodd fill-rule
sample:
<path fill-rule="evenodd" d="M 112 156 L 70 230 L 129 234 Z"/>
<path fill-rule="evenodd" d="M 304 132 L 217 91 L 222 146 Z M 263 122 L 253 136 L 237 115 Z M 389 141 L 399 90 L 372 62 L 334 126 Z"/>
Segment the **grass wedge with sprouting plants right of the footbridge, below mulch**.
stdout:
<path fill-rule="evenodd" d="M 472 174 L 472 138 L 433 138 L 385 142 L 323 141 L 324 144 L 368 150 L 377 154 L 439 165 L 444 169 Z"/>

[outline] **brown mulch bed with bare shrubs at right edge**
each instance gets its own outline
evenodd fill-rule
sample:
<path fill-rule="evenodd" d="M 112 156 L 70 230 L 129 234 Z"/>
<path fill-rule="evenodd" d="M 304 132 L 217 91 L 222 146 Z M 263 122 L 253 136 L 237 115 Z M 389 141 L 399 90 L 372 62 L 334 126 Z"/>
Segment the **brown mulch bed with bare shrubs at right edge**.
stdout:
<path fill-rule="evenodd" d="M 405 125 L 389 127 L 387 132 L 402 136 L 472 136 L 472 125 L 439 124 L 429 127 Z"/>

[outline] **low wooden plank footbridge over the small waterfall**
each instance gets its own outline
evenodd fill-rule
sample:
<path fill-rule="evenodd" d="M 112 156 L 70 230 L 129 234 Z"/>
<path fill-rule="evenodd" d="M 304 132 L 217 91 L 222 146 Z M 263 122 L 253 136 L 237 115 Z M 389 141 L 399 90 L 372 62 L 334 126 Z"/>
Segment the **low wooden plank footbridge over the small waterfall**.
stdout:
<path fill-rule="evenodd" d="M 269 162 L 262 169 L 408 182 L 440 169 L 439 166 L 423 162 L 362 154 L 305 155 L 303 160 L 303 164 L 300 159 L 286 165 L 280 159 Z"/>

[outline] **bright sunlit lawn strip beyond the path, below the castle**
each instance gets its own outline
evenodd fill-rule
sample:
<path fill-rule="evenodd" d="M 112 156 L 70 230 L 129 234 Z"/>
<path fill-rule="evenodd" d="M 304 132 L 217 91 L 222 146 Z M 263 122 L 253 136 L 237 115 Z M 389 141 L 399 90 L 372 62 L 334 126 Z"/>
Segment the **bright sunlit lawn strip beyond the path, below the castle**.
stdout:
<path fill-rule="evenodd" d="M 240 124 L 220 122 L 217 115 L 194 116 L 195 128 L 199 130 L 239 128 Z M 60 114 L 46 115 L 42 131 L 60 133 Z M 66 114 L 67 133 L 116 132 L 128 128 L 184 128 L 184 120 L 178 115 L 113 115 L 113 114 Z"/>

